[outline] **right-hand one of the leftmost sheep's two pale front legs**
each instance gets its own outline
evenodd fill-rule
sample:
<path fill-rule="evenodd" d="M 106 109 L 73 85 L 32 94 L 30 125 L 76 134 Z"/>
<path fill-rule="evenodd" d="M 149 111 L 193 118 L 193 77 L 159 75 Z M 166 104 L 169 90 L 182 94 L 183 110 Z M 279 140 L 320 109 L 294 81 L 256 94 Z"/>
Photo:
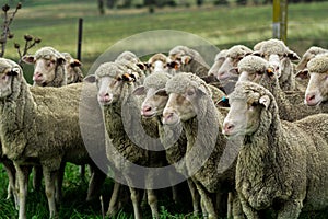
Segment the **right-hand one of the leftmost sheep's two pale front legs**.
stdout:
<path fill-rule="evenodd" d="M 55 201 L 55 178 L 58 172 L 50 171 L 47 168 L 44 168 L 43 173 L 45 177 L 45 187 L 46 187 L 46 196 L 49 206 L 49 215 L 50 218 L 54 218 L 57 216 L 56 201 Z"/>

